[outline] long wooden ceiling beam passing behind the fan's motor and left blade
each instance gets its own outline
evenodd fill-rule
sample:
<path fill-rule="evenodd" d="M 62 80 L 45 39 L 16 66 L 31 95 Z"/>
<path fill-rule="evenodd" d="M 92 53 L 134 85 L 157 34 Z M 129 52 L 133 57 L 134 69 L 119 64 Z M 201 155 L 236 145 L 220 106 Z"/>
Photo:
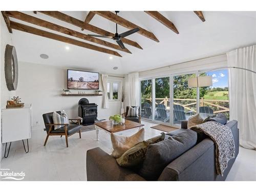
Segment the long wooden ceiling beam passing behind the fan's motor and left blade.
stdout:
<path fill-rule="evenodd" d="M 67 23 L 75 25 L 77 27 L 84 28 L 88 31 L 100 34 L 100 35 L 115 36 L 114 33 L 105 31 L 103 29 L 100 29 L 100 28 L 95 27 L 95 26 L 90 25 L 90 24 L 84 24 L 84 22 L 82 22 L 81 20 L 79 20 L 77 18 L 74 18 L 72 16 L 69 16 L 69 15 L 66 15 L 64 13 L 61 13 L 59 11 L 39 11 L 39 12 L 41 12 L 43 14 L 46 14 L 48 16 L 54 17 L 56 19 L 62 20 L 63 22 L 67 22 Z M 136 47 L 138 49 L 142 49 L 140 47 L 140 45 L 135 41 L 132 41 L 132 40 L 129 40 L 129 39 L 126 39 L 126 38 L 122 38 L 122 41 L 127 45 Z"/>

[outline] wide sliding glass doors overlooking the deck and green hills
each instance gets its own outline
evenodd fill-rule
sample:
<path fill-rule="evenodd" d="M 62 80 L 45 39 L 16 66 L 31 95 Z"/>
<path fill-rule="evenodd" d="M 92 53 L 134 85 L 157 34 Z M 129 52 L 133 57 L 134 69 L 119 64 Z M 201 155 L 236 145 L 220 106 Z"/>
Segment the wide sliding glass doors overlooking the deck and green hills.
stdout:
<path fill-rule="evenodd" d="M 212 87 L 188 88 L 188 79 L 212 76 Z M 140 81 L 141 115 L 156 123 L 180 127 L 182 120 L 224 113 L 229 118 L 228 71 L 179 74 Z"/>

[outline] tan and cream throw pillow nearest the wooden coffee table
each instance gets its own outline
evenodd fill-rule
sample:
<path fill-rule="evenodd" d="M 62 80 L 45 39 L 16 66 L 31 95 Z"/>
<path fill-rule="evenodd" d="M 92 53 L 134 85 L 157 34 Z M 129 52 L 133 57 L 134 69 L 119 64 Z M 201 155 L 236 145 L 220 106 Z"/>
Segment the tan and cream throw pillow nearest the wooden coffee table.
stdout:
<path fill-rule="evenodd" d="M 144 132 L 144 128 L 142 128 L 137 133 L 129 137 L 111 133 L 111 141 L 113 145 L 113 152 L 111 155 L 115 158 L 121 157 L 124 152 L 144 140 Z"/>

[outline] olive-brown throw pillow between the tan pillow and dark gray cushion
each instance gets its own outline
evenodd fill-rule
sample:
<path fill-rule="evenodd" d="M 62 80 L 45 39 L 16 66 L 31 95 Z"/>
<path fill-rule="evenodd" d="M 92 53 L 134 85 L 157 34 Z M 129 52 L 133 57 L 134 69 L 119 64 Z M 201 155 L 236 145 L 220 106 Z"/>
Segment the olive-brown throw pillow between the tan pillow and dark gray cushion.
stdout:
<path fill-rule="evenodd" d="M 124 167 L 131 167 L 141 164 L 145 159 L 148 145 L 162 141 L 164 140 L 164 138 L 165 134 L 161 133 L 160 136 L 156 136 L 146 141 L 139 142 L 138 144 L 127 150 L 121 157 L 119 157 L 116 160 L 117 163 L 120 166 Z"/>

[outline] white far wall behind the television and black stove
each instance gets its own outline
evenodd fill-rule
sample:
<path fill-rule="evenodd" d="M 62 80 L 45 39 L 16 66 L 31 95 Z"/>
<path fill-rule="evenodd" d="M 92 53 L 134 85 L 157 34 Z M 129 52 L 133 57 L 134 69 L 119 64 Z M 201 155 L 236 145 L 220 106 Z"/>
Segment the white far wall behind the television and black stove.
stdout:
<path fill-rule="evenodd" d="M 117 78 L 117 80 L 123 81 L 123 78 Z M 113 114 L 120 113 L 120 101 L 110 102 L 109 109 L 102 109 L 102 96 L 63 97 L 61 96 L 62 89 L 67 89 L 67 68 L 19 62 L 16 95 L 22 98 L 23 102 L 32 103 L 33 129 L 44 128 L 42 119 L 44 113 L 65 110 L 70 118 L 78 117 L 78 101 L 82 97 L 88 98 L 91 103 L 98 104 L 98 119 L 107 119 Z M 71 92 L 78 93 L 78 90 L 71 90 Z M 86 92 L 94 91 L 87 90 Z"/>

